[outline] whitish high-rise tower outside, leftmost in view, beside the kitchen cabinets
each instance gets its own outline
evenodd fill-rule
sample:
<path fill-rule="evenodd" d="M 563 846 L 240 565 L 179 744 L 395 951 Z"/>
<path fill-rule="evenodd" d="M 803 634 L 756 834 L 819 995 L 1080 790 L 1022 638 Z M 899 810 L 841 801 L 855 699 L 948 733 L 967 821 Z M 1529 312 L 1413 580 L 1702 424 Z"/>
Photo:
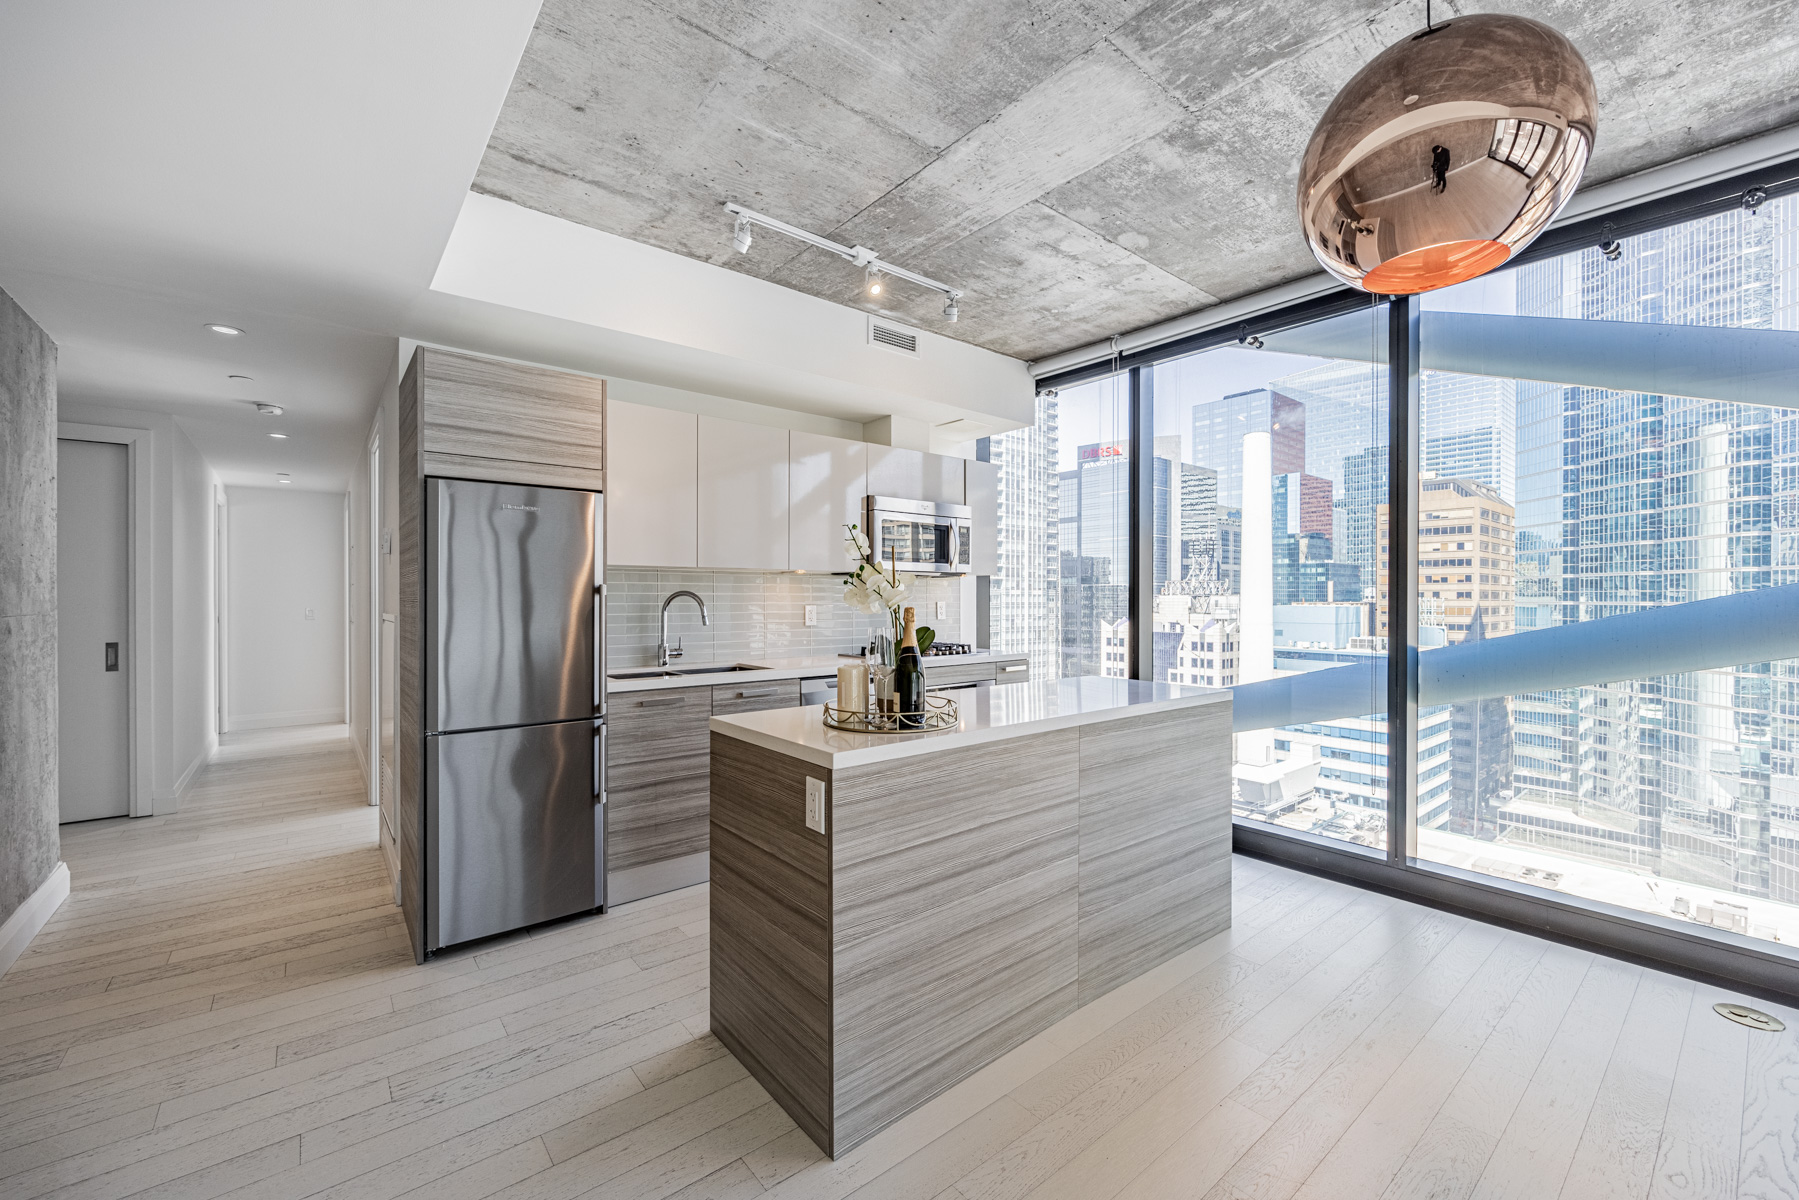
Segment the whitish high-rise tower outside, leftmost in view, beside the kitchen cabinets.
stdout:
<path fill-rule="evenodd" d="M 1031 675 L 1061 667 L 1061 475 L 1056 394 L 1038 392 L 1036 421 L 989 443 L 998 470 L 998 572 L 989 590 L 993 648 L 1031 655 Z"/>

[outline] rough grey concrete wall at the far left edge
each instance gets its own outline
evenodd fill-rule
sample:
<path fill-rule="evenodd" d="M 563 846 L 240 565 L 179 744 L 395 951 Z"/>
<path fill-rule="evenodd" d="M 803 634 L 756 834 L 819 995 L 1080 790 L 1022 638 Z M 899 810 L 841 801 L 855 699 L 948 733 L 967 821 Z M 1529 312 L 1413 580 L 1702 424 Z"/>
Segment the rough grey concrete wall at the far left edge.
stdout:
<path fill-rule="evenodd" d="M 0 923 L 56 829 L 56 345 L 0 291 Z"/>

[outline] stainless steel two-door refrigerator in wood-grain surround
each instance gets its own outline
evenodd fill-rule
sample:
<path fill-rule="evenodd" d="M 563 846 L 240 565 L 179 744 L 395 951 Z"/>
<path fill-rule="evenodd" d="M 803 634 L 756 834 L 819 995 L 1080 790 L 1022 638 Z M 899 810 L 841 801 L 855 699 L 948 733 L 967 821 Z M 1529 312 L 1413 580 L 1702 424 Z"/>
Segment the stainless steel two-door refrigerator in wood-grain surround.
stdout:
<path fill-rule="evenodd" d="M 604 905 L 594 491 L 425 480 L 425 950 Z"/>

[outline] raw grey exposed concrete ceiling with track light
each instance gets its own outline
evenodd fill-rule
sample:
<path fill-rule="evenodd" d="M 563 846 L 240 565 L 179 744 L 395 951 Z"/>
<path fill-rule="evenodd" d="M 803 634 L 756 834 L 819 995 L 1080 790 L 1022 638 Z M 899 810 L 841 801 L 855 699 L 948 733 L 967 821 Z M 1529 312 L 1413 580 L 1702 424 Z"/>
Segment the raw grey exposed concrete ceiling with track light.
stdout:
<path fill-rule="evenodd" d="M 1500 5 L 1436 5 L 1439 16 Z M 1592 65 L 1605 182 L 1799 121 L 1799 0 L 1520 0 Z M 1042 358 L 1317 272 L 1295 171 L 1421 0 L 547 0 L 475 189 Z M 736 200 L 962 288 L 882 306 Z"/>

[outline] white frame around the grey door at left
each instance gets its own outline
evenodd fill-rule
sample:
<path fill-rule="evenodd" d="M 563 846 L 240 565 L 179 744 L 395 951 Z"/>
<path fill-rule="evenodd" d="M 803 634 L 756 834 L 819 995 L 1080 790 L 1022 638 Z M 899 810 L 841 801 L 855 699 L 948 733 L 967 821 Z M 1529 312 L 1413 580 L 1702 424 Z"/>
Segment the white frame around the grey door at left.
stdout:
<path fill-rule="evenodd" d="M 155 513 L 155 491 L 151 479 L 151 461 L 157 446 L 155 430 L 126 428 L 115 425 L 85 425 L 79 421 L 58 421 L 58 441 L 97 441 L 126 448 L 126 612 L 130 613 L 131 640 L 126 646 L 126 664 L 131 671 L 131 703 L 126 721 L 126 763 L 130 765 L 128 786 L 131 817 L 149 817 L 155 801 L 149 781 L 149 730 L 153 723 L 153 678 L 155 653 L 151 651 L 151 597 L 155 596 L 155 531 L 151 515 Z M 61 721 L 61 718 L 58 718 Z"/>

